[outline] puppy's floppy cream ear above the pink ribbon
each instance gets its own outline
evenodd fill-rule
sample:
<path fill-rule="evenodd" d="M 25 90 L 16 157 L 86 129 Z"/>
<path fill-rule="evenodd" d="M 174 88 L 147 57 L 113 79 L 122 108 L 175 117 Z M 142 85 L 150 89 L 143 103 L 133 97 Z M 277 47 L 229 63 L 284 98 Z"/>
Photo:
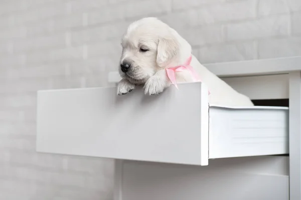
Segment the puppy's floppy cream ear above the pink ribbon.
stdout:
<path fill-rule="evenodd" d="M 161 38 L 159 39 L 157 49 L 157 64 L 159 66 L 167 65 L 178 53 L 179 43 L 176 38 Z"/>

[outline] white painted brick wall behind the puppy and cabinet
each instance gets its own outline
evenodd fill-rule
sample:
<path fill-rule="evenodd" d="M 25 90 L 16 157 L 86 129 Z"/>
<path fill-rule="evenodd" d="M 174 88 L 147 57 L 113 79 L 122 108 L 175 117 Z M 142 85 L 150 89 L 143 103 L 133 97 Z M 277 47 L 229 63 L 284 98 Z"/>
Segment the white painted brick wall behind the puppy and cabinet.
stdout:
<path fill-rule="evenodd" d="M 0 199 L 112 199 L 112 160 L 35 152 L 36 90 L 109 85 L 120 36 L 142 16 L 203 63 L 301 54 L 300 0 L 2 0 Z"/>

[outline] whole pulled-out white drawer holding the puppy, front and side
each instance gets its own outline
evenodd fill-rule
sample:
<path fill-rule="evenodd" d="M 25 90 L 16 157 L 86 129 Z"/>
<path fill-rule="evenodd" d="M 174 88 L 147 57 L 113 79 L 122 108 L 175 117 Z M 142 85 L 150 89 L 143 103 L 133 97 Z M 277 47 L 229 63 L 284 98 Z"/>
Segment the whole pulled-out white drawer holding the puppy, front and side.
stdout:
<path fill-rule="evenodd" d="M 200 82 L 154 96 L 115 87 L 38 92 L 37 151 L 208 165 L 288 153 L 287 107 L 209 106 Z"/>

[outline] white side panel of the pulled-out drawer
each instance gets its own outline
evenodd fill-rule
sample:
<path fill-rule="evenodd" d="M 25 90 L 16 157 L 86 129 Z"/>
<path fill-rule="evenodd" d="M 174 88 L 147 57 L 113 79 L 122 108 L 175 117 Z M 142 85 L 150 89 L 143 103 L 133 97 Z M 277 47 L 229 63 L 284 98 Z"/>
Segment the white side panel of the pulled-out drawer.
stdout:
<path fill-rule="evenodd" d="M 288 109 L 209 109 L 209 158 L 288 153 Z"/>

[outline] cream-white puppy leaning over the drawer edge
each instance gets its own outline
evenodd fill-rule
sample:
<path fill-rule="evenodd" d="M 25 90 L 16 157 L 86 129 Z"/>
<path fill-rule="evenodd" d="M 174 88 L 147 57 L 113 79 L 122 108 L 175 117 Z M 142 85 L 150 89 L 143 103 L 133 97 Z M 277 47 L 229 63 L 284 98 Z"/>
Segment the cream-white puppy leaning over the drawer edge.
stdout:
<path fill-rule="evenodd" d="M 191 45 L 176 30 L 155 17 L 131 23 L 122 38 L 118 95 L 144 84 L 145 94 L 159 94 L 171 85 L 165 68 L 184 64 L 192 55 Z M 208 52 L 210 53 L 210 52 Z M 210 91 L 209 103 L 234 106 L 253 105 L 251 100 L 210 72 L 194 55 L 190 64 Z M 189 71 L 176 72 L 177 82 L 191 82 Z"/>

